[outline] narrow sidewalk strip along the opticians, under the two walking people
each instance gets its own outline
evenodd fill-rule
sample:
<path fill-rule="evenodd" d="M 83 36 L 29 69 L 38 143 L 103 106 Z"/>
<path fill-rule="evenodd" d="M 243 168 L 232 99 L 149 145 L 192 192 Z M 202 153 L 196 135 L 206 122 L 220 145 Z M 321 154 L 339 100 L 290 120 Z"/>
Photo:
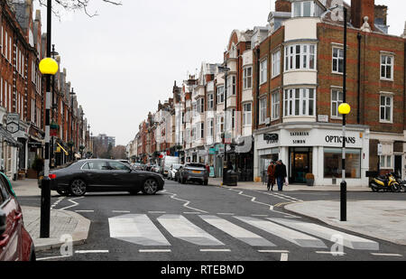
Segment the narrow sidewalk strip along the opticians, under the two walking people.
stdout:
<path fill-rule="evenodd" d="M 223 178 L 209 178 L 208 185 L 234 188 L 234 189 L 243 189 L 243 190 L 266 190 L 266 184 L 263 182 L 240 182 L 238 181 L 237 186 L 222 186 Z M 278 190 L 278 186 L 273 186 L 273 189 Z M 307 186 L 307 185 L 295 185 L 291 184 L 289 186 L 283 186 L 283 191 L 340 191 L 340 185 L 333 186 Z M 351 186 L 347 187 L 346 191 L 371 191 L 367 186 Z"/>

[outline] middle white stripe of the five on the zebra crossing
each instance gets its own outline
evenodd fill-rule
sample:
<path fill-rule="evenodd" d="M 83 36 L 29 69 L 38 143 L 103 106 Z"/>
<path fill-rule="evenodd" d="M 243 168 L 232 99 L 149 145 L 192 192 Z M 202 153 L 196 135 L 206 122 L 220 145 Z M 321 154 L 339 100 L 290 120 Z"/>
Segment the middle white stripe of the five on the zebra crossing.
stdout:
<path fill-rule="evenodd" d="M 275 246 L 272 242 L 260 237 L 253 232 L 236 226 L 235 224 L 227 221 L 226 219 L 218 218 L 217 216 L 200 215 L 208 224 L 216 227 L 231 237 L 235 237 L 250 246 Z"/>

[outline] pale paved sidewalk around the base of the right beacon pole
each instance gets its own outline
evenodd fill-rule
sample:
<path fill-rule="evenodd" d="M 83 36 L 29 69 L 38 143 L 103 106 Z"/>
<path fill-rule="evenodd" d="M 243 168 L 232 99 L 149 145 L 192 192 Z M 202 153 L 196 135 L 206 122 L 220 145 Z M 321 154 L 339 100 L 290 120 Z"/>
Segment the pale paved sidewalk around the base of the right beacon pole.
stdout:
<path fill-rule="evenodd" d="M 339 220 L 339 201 L 304 201 L 286 205 L 284 209 L 337 228 L 406 245 L 406 200 L 347 201 L 346 222 Z"/>

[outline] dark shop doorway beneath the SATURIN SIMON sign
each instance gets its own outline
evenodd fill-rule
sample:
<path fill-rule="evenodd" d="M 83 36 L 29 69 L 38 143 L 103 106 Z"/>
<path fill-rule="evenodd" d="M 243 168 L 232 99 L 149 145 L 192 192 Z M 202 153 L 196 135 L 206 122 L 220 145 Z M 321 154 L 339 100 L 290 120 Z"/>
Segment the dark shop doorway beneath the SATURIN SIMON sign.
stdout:
<path fill-rule="evenodd" d="M 313 153 L 308 147 L 291 148 L 290 181 L 306 183 L 306 174 L 312 172 Z"/>

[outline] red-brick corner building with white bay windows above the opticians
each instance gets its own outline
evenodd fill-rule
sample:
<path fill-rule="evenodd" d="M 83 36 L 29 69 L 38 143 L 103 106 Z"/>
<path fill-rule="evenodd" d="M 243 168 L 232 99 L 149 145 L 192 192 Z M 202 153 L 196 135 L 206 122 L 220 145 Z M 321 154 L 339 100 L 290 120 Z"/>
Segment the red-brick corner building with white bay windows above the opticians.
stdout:
<path fill-rule="evenodd" d="M 343 23 L 324 16 L 325 4 L 291 1 L 291 18 L 255 47 L 257 177 L 276 159 L 287 165 L 291 183 L 305 182 L 306 173 L 315 175 L 317 185 L 341 177 L 337 107 L 343 102 Z M 365 172 L 378 169 L 378 158 L 381 172 L 405 173 L 405 41 L 385 33 L 383 6 L 368 0 L 352 1 L 348 8 L 346 102 L 352 112 L 347 117 L 346 178 L 349 185 L 365 185 Z M 381 14 L 379 24 L 374 24 L 375 13 Z M 270 26 L 272 18 L 271 13 Z M 377 144 L 383 144 L 381 157 Z"/>

